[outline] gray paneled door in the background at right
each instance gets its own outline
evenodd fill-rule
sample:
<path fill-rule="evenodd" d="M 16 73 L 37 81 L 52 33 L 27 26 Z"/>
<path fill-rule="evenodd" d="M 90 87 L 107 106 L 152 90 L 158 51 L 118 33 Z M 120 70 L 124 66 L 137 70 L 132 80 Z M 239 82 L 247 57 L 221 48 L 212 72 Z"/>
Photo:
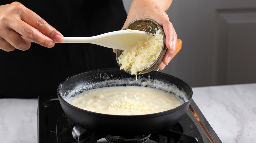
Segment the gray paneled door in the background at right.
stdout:
<path fill-rule="evenodd" d="M 166 12 L 182 49 L 161 72 L 192 87 L 256 83 L 256 0 L 173 0 Z"/>

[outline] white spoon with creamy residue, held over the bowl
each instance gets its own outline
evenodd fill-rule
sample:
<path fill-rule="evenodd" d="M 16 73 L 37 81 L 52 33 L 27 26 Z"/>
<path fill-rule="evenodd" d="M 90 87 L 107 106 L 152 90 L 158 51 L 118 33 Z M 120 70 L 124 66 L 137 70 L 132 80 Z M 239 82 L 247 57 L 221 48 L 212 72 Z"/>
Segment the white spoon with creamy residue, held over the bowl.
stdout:
<path fill-rule="evenodd" d="M 61 43 L 91 43 L 112 49 L 132 49 L 138 41 L 146 40 L 152 34 L 139 30 L 119 30 L 92 37 L 64 37 Z M 23 37 L 28 40 L 27 38 Z M 30 42 L 33 42 L 29 40 Z"/>

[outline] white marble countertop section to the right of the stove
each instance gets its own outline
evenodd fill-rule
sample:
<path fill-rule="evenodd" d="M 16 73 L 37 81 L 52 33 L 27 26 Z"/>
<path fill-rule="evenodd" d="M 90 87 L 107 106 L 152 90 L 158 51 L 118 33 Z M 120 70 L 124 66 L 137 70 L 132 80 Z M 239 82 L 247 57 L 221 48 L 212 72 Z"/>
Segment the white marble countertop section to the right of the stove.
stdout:
<path fill-rule="evenodd" d="M 255 142 L 256 84 L 197 87 L 193 99 L 222 142 Z"/>

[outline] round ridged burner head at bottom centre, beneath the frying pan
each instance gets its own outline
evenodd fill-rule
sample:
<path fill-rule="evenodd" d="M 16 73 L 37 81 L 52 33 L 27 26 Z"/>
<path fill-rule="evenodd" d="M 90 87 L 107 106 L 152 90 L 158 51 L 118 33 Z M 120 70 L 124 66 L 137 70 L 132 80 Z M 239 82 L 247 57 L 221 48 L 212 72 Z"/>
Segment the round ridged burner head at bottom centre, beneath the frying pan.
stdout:
<path fill-rule="evenodd" d="M 144 143 L 149 139 L 149 136 L 150 135 L 123 137 L 123 136 L 107 135 L 106 140 L 110 143 Z"/>

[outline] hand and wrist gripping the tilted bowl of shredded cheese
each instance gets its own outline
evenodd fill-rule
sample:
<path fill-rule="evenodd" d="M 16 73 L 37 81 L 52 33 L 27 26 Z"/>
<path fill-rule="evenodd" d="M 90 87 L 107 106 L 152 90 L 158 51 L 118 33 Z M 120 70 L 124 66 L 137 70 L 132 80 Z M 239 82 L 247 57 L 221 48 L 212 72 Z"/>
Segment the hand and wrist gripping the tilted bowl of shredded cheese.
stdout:
<path fill-rule="evenodd" d="M 169 21 L 168 15 L 165 13 L 171 3 L 172 0 L 134 0 L 122 27 L 123 29 L 126 25 L 139 18 L 152 19 L 163 27 L 167 51 L 158 66 L 160 70 L 163 70 L 170 62 L 177 46 L 177 34 L 172 23 Z"/>

